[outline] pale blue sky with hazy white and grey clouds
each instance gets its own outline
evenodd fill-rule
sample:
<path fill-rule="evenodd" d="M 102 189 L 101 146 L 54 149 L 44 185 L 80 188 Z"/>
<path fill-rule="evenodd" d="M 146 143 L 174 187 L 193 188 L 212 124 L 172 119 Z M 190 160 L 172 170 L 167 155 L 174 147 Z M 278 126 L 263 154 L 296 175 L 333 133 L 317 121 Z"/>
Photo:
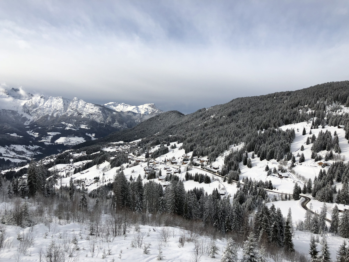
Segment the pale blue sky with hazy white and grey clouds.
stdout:
<path fill-rule="evenodd" d="M 0 83 L 185 114 L 349 80 L 348 1 L 0 1 Z"/>

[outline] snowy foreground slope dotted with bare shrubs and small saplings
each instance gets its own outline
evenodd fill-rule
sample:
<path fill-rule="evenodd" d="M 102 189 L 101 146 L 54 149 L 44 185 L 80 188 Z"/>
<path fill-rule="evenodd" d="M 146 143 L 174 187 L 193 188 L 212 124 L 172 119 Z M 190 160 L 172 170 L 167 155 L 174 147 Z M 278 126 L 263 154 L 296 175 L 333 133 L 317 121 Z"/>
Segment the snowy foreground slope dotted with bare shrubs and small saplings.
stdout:
<path fill-rule="evenodd" d="M 168 240 L 165 242 L 162 238 L 163 232 L 168 233 Z M 164 232 L 164 233 L 166 233 Z M 135 232 L 135 226 L 129 227 L 126 235 L 111 237 L 110 242 L 106 242 L 101 237 L 89 235 L 86 226 L 79 223 L 63 224 L 62 221 L 52 222 L 50 228 L 45 224 L 38 224 L 33 227 L 20 228 L 17 226 L 6 226 L 5 247 L 0 252 L 0 261 L 46 261 L 47 248 L 54 242 L 63 250 L 63 247 L 72 251 L 72 257 L 68 257 L 66 261 L 156 261 L 158 254 L 158 245 L 161 243 L 164 261 L 190 261 L 193 253 L 194 243 L 185 242 L 184 246 L 179 245 L 179 238 L 184 236 L 189 238 L 190 232 L 174 227 L 153 227 L 140 226 L 140 231 Z M 32 242 L 28 245 L 28 249 L 21 246 L 23 241 L 17 240 L 18 236 L 30 236 Z M 143 237 L 144 243 L 150 243 L 149 254 L 143 254 L 143 245 L 139 247 L 131 247 L 131 240 L 138 236 Z M 77 244 L 72 244 L 72 240 L 76 238 Z M 201 241 L 206 249 L 210 243 L 210 238 L 197 236 L 196 240 Z M 225 239 L 216 240 L 219 248 L 219 254 L 216 259 L 208 256 L 207 250 L 202 254 L 201 261 L 220 261 L 221 252 L 225 245 Z M 93 248 L 95 245 L 95 248 Z M 94 250 L 94 252 L 93 252 Z M 92 255 L 92 252 L 94 253 Z M 121 252 L 121 253 L 120 253 Z M 24 253 L 24 254 L 23 254 Z M 105 257 L 103 258 L 103 253 Z M 109 253 L 109 254 L 108 254 Z M 242 250 L 239 252 L 242 256 Z M 120 255 L 121 254 L 121 255 Z M 121 259 L 120 259 L 121 257 Z M 70 259 L 70 260 L 69 260 Z"/>

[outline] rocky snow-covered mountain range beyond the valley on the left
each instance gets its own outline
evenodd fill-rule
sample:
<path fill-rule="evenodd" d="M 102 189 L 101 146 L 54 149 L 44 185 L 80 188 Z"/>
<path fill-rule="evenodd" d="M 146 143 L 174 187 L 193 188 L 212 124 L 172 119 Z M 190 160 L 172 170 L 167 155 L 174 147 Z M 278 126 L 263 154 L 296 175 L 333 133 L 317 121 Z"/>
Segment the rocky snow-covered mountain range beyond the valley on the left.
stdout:
<path fill-rule="evenodd" d="M 54 153 L 55 146 L 58 146 L 55 150 L 61 150 L 64 146 L 132 128 L 161 112 L 154 104 L 138 107 L 123 103 L 99 105 L 77 97 L 70 100 L 61 96 L 33 95 L 22 88 L 0 85 L 0 152 L 10 160 L 14 157 L 13 152 L 20 151 L 12 148 L 13 145 L 35 145 L 31 150 L 33 154 L 40 149 L 44 153 L 44 148 Z M 15 155 L 20 158 L 17 153 Z M 29 157 L 29 154 L 25 155 Z"/>

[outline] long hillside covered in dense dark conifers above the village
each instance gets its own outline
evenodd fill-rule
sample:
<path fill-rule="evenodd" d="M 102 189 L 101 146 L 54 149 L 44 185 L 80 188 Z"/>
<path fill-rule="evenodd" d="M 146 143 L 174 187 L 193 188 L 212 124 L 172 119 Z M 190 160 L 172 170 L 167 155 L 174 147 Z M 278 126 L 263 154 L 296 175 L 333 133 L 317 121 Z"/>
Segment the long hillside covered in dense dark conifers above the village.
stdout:
<path fill-rule="evenodd" d="M 186 152 L 208 155 L 214 160 L 229 145 L 248 143 L 248 151 L 254 149 L 249 143 L 258 136 L 257 131 L 278 128 L 290 123 L 307 121 L 317 117 L 320 125 L 325 117 L 326 105 L 349 102 L 349 81 L 329 82 L 296 91 L 278 92 L 262 96 L 241 97 L 228 103 L 200 109 L 189 115 L 177 111 L 153 117 L 140 125 L 109 136 L 79 144 L 76 148 L 114 141 L 183 142 Z M 327 122 L 330 119 L 327 118 Z M 345 125 L 348 117 L 337 116 L 337 124 Z M 157 143 L 159 144 L 159 143 Z"/>

